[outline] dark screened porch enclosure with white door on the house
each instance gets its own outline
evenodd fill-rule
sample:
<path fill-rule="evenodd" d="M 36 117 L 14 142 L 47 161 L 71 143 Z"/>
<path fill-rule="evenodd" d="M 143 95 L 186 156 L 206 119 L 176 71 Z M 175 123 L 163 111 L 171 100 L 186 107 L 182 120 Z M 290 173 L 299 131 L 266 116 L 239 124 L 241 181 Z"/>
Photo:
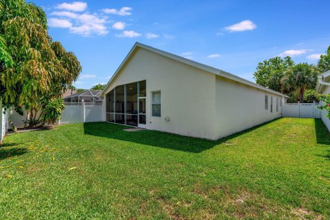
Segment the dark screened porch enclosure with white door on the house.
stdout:
<path fill-rule="evenodd" d="M 131 126 L 146 124 L 146 80 L 119 85 L 107 98 L 107 122 Z"/>

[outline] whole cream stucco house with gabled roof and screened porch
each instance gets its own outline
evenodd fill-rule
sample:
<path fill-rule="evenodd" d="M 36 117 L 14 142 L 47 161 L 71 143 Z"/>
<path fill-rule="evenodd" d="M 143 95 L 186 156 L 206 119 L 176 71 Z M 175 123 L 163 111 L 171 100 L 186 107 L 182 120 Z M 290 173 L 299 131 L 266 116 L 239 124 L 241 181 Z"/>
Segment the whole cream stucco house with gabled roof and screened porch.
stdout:
<path fill-rule="evenodd" d="M 104 120 L 217 140 L 281 117 L 287 96 L 135 43 L 102 91 Z"/>

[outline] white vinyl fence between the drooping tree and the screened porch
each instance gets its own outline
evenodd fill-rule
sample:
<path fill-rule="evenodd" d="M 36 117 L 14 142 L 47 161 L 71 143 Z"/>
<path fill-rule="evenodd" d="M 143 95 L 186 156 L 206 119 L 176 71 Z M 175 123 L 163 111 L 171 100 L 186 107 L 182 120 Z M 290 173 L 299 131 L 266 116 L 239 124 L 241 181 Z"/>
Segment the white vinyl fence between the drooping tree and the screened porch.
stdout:
<path fill-rule="evenodd" d="M 65 103 L 60 124 L 102 122 L 103 103 Z"/>

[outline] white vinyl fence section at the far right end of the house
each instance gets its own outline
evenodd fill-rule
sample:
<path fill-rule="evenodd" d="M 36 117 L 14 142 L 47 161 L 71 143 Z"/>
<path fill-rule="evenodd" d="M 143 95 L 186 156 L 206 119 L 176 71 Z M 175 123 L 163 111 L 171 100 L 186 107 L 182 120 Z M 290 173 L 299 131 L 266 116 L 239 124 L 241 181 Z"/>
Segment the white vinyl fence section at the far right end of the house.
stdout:
<path fill-rule="evenodd" d="M 321 118 L 321 111 L 314 103 L 285 103 L 282 107 L 282 117 L 289 118 Z"/>

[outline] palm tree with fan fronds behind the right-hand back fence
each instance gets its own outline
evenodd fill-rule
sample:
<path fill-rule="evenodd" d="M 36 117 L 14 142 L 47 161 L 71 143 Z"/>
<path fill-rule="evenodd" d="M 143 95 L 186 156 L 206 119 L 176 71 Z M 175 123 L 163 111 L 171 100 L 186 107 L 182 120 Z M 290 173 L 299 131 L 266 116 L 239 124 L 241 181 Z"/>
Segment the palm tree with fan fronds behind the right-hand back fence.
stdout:
<path fill-rule="evenodd" d="M 315 67 L 308 63 L 299 63 L 290 67 L 281 79 L 283 91 L 296 91 L 298 101 L 302 102 L 305 89 L 316 86 L 317 74 Z"/>

